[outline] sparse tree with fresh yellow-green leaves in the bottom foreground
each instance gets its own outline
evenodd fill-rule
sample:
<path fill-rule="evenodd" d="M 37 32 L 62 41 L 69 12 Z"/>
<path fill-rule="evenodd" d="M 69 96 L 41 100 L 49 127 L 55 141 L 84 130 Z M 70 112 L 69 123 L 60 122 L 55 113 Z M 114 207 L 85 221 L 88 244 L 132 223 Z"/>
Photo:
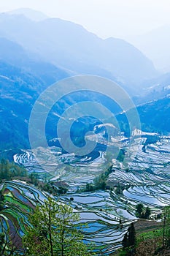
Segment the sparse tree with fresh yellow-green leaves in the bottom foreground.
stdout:
<path fill-rule="evenodd" d="M 94 255 L 82 242 L 82 233 L 74 225 L 80 216 L 71 206 L 54 201 L 51 197 L 42 206 L 36 206 L 29 217 L 30 226 L 23 237 L 26 255 Z"/>

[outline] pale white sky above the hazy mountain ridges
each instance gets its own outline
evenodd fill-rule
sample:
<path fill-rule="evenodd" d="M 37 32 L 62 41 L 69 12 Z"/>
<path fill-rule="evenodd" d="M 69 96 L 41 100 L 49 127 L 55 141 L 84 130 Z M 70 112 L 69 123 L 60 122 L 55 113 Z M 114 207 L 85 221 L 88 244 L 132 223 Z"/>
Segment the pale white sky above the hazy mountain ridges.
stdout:
<path fill-rule="evenodd" d="M 170 25 L 170 0 L 0 0 L 0 12 L 21 7 L 79 23 L 103 38 Z"/>

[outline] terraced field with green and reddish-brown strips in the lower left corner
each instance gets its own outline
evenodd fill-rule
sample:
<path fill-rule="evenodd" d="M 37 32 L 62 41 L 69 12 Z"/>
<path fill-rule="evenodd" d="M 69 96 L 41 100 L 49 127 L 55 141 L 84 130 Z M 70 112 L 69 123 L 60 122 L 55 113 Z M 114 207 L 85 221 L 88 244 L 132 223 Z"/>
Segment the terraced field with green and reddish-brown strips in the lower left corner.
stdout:
<path fill-rule="evenodd" d="M 7 181 L 1 184 L 5 198 L 5 207 L 1 211 L 1 228 L 12 236 L 15 246 L 20 249 L 21 236 L 26 232 L 28 225 L 28 213 L 36 206 L 36 203 L 43 202 L 45 194 L 32 189 L 26 184 L 14 181 Z"/>

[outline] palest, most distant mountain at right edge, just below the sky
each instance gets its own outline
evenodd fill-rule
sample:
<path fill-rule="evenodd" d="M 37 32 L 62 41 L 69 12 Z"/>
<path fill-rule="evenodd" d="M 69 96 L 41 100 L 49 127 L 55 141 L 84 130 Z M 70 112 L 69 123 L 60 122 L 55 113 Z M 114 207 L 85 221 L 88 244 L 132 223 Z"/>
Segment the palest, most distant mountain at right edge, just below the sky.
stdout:
<path fill-rule="evenodd" d="M 170 72 L 170 26 L 161 26 L 138 37 L 129 37 L 128 42 L 151 59 L 156 69 Z"/>

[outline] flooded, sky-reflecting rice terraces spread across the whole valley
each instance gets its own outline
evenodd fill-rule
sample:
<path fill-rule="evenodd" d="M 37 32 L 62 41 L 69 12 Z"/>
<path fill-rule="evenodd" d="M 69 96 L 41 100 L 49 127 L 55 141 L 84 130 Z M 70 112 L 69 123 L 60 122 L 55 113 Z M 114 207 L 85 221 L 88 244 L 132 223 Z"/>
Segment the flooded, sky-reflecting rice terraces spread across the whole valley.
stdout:
<path fill-rule="evenodd" d="M 113 172 L 109 175 L 107 184 L 110 187 L 117 184 L 128 185 L 128 189 L 124 189 L 120 195 L 116 195 L 114 190 L 88 193 L 80 193 L 77 190 L 101 173 L 105 161 L 102 151 L 99 157 L 88 162 L 85 162 L 85 159 L 77 159 L 74 154 L 63 155 L 60 149 L 54 147 L 47 150 L 36 149 L 39 151 L 40 164 L 37 164 L 31 151 L 15 155 L 15 162 L 26 165 L 29 171 L 45 173 L 47 170 L 53 180 L 61 178 L 69 184 L 69 192 L 60 196 L 59 200 L 69 201 L 74 211 L 80 212 L 80 222 L 88 223 L 88 227 L 84 229 L 85 242 L 95 242 L 98 255 L 110 255 L 121 245 L 129 223 L 136 219 L 137 203 L 150 206 L 152 217 L 160 212 L 163 206 L 170 204 L 170 138 L 161 136 L 155 143 L 148 143 L 148 137 L 144 137 L 145 135 L 142 135 L 142 138 L 139 138 L 138 134 L 135 136 L 131 146 L 128 146 L 127 140 L 125 145 L 122 145 L 126 151 L 126 162 L 122 164 L 115 159 L 112 161 Z M 120 141 L 118 143 L 120 144 Z M 63 163 L 68 162 L 68 168 L 65 168 Z M 12 219 L 14 212 L 16 223 L 27 223 L 26 211 L 34 207 L 36 202 L 42 203 L 47 196 L 35 187 L 18 182 L 6 183 L 4 187 L 9 188 L 6 190 L 9 208 L 4 211 L 9 214 L 6 215 L 7 219 Z M 71 197 L 73 200 L 70 200 Z M 7 219 L 3 220 L 6 225 Z M 20 234 L 22 232 L 23 224 L 20 225 Z"/>

